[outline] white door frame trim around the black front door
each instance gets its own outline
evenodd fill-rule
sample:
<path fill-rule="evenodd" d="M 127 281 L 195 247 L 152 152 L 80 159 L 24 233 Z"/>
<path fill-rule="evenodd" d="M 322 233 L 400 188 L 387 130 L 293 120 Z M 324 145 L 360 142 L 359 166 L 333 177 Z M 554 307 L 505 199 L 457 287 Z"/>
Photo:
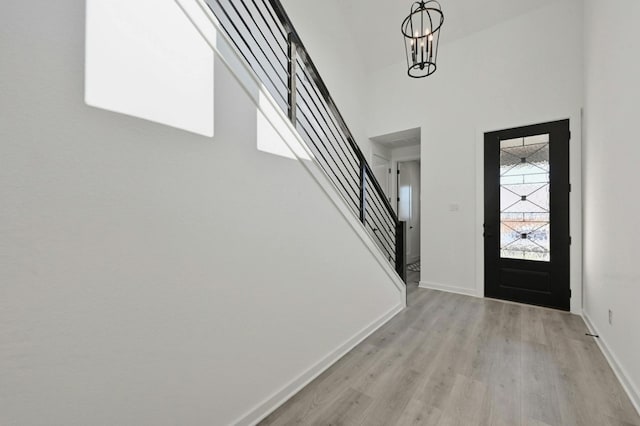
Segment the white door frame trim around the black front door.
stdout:
<path fill-rule="evenodd" d="M 535 117 L 534 117 L 535 118 Z M 572 238 L 569 248 L 570 258 L 570 300 L 571 312 L 582 314 L 582 109 L 571 114 L 556 114 L 537 117 L 531 121 L 530 117 L 523 121 L 505 120 L 493 122 L 476 128 L 476 296 L 484 297 L 484 238 L 482 225 L 484 223 L 484 134 L 516 127 L 524 127 L 539 123 L 559 120 L 569 120 L 569 230 Z"/>

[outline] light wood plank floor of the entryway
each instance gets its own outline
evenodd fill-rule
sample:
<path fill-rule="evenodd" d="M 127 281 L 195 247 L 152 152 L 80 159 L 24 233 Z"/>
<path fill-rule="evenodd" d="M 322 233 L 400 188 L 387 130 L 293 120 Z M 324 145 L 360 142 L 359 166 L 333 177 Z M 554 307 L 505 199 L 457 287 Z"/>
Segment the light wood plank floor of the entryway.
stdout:
<path fill-rule="evenodd" d="M 405 311 L 261 424 L 640 426 L 580 317 L 408 290 Z"/>

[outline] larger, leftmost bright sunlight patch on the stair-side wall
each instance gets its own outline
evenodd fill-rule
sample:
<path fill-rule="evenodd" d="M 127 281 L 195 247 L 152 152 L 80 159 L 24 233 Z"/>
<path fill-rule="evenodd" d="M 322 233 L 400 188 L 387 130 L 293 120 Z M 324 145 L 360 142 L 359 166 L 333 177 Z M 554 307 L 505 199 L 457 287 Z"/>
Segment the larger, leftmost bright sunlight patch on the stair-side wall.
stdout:
<path fill-rule="evenodd" d="M 174 0 L 86 0 L 85 102 L 213 136 L 214 53 Z"/>

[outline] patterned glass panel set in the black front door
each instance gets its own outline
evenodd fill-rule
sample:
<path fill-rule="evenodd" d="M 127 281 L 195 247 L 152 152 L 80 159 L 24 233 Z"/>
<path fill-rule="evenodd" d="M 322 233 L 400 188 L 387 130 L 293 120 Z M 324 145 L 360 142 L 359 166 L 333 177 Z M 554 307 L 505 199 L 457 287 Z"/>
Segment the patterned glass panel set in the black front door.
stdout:
<path fill-rule="evenodd" d="M 500 141 L 500 257 L 549 262 L 549 135 Z"/>

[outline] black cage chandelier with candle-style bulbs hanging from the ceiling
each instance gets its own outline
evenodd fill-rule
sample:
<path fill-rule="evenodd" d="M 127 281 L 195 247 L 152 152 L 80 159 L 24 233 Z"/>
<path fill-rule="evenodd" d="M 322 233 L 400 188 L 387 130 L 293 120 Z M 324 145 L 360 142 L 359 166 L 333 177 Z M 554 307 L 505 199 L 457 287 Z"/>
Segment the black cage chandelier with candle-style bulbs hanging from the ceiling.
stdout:
<path fill-rule="evenodd" d="M 422 78 L 436 72 L 440 28 L 444 22 L 442 7 L 436 0 L 417 1 L 402 22 L 407 74 Z"/>

